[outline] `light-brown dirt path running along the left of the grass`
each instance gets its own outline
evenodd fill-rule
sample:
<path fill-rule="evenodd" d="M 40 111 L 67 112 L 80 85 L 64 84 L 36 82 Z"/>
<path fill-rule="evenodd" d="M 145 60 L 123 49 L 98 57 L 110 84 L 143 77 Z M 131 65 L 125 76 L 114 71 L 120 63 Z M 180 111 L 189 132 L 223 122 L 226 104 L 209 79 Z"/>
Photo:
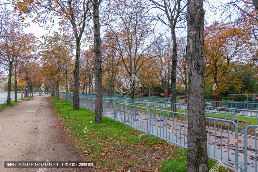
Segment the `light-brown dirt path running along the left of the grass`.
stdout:
<path fill-rule="evenodd" d="M 34 96 L 33 100 L 18 103 L 0 112 L 0 126 L 1 172 L 38 170 L 38 168 L 4 168 L 4 161 L 79 160 L 79 153 L 71 144 L 60 120 L 55 116 L 47 95 Z M 56 168 L 52 171 L 68 170 Z M 87 169 L 76 168 L 72 170 L 74 171 L 87 171 Z"/>

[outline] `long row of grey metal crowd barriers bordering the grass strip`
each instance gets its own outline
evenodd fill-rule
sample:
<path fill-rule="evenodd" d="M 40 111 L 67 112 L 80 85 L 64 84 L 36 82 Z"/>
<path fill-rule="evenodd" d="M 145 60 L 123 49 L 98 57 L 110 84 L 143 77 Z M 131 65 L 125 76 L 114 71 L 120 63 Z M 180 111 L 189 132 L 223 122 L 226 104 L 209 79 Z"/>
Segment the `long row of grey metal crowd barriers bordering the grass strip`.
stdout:
<path fill-rule="evenodd" d="M 72 95 L 69 95 L 69 97 L 73 100 Z M 79 102 L 80 106 L 93 112 L 95 111 L 95 99 L 80 97 Z M 171 107 L 172 111 L 168 111 L 167 109 L 171 110 Z M 175 107 L 178 112 L 173 112 Z M 124 104 L 103 101 L 103 116 L 143 131 L 145 134 L 141 136 L 149 135 L 149 138 L 150 135 L 157 136 L 168 142 L 187 148 L 188 114 L 181 113 L 181 110 L 187 112 L 187 105 L 169 102 Z M 258 111 L 221 107 L 216 110 L 214 107 L 206 107 L 205 111 L 206 114 L 208 113 L 206 116 L 208 157 L 216 161 L 220 160 L 222 163 L 233 167 L 235 171 L 240 166 L 240 170 L 243 172 L 247 172 L 247 168 L 249 172 L 257 172 L 256 132 L 258 131 L 253 130 L 252 127 L 258 126 L 247 126 L 244 136 L 242 133 L 242 136 L 239 136 L 238 132 L 239 128 L 244 128 L 249 122 L 255 122 L 257 124 Z M 240 113 L 239 111 L 242 114 L 236 114 Z M 223 113 L 229 114 L 227 116 L 227 114 L 225 115 Z M 250 120 L 247 120 L 249 122 L 245 125 L 240 126 L 239 124 L 241 122 L 236 121 L 239 120 L 239 117 L 241 117 L 242 121 L 244 118 L 250 118 Z M 236 128 L 238 129 L 236 130 Z M 249 131 L 249 128 L 251 128 L 251 131 Z M 247 136 L 251 136 L 248 143 Z M 243 153 L 245 155 L 241 156 Z M 247 163 L 247 161 L 251 163 Z M 245 165 L 244 169 L 242 169 L 243 165 Z"/>

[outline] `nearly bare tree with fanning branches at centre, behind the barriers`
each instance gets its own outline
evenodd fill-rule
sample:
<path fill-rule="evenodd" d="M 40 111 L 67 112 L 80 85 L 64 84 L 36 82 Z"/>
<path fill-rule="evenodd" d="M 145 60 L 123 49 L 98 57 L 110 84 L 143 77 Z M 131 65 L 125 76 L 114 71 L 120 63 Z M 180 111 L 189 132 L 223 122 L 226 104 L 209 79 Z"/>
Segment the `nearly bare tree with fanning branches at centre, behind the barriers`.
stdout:
<path fill-rule="evenodd" d="M 152 33 L 148 7 L 146 2 L 139 0 L 114 1 L 110 3 L 109 11 L 107 24 L 116 38 L 118 52 L 129 78 L 132 78 L 137 75 L 144 62 L 154 57 L 149 56 L 148 51 L 157 39 L 149 45 L 145 44 Z M 135 78 L 132 79 L 130 91 L 128 90 L 131 99 L 134 99 L 134 88 Z"/>

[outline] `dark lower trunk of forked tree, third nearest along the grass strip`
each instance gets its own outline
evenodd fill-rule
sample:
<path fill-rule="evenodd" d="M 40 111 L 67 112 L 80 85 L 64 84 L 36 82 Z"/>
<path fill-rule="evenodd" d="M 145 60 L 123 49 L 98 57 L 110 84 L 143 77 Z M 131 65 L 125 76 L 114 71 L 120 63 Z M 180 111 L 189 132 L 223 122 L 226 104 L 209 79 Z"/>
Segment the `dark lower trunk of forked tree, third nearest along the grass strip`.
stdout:
<path fill-rule="evenodd" d="M 79 88 L 80 88 L 80 51 L 81 51 L 81 38 L 76 38 L 76 53 L 75 53 L 75 67 L 73 69 L 74 75 L 74 90 L 73 90 L 73 110 L 79 110 Z"/>

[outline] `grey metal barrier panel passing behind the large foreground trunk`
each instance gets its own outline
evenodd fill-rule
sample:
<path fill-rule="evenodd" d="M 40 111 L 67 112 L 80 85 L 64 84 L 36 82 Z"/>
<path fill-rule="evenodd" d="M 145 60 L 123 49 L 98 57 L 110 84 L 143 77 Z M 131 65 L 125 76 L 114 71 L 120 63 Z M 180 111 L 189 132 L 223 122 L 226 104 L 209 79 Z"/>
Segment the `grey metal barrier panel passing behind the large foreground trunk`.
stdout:
<path fill-rule="evenodd" d="M 150 109 L 148 134 L 187 148 L 187 120 L 188 114 Z M 238 140 L 238 132 L 230 134 L 218 129 L 217 125 L 221 123 L 231 124 L 237 128 L 237 124 L 231 120 L 206 117 L 208 157 L 220 160 L 237 171 L 238 142 L 234 140 Z M 230 151 L 234 151 L 234 154 L 229 153 Z"/>

